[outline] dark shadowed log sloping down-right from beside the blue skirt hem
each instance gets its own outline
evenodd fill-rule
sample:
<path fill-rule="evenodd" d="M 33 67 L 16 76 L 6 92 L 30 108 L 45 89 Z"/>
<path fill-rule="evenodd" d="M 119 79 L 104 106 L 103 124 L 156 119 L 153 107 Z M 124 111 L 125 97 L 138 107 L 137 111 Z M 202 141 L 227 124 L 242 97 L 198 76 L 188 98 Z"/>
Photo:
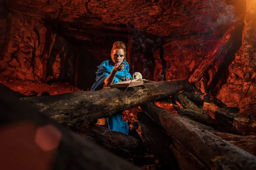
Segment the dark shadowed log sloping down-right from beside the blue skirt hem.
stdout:
<path fill-rule="evenodd" d="M 160 162 L 161 167 L 180 170 L 204 170 L 204 165 L 189 153 L 180 142 L 169 136 L 163 127 L 158 126 L 145 113 L 137 113 L 138 133 Z M 176 162 L 177 161 L 177 162 Z"/>

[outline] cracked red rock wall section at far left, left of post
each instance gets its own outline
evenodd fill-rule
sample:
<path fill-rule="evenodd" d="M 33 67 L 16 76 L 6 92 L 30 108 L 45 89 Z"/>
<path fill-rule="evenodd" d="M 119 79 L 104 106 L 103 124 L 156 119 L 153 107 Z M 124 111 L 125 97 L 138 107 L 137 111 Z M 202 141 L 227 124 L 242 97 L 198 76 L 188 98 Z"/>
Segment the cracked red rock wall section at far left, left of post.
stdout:
<path fill-rule="evenodd" d="M 46 31 L 44 24 L 35 17 L 12 14 L 10 27 L 7 29 L 7 49 L 0 61 L 1 77 L 39 81 L 42 74 L 40 55 Z"/>

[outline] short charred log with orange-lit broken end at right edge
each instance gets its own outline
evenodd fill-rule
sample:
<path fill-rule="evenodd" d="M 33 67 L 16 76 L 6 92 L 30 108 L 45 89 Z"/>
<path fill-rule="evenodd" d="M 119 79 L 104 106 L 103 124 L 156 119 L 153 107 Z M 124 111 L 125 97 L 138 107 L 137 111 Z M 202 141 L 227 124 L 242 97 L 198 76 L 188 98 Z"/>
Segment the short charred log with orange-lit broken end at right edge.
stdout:
<path fill-rule="evenodd" d="M 215 124 L 219 129 L 226 132 L 239 132 L 244 135 L 256 135 L 256 120 L 228 113 L 213 103 L 204 103 L 204 111 L 215 119 Z"/>

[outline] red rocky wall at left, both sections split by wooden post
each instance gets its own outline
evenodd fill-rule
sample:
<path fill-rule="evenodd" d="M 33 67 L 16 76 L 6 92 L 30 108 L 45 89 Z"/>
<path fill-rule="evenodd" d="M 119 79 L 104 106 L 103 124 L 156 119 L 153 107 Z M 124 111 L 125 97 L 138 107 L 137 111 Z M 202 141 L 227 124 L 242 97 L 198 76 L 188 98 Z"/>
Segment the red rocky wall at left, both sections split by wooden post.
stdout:
<path fill-rule="evenodd" d="M 0 61 L 1 79 L 41 81 L 46 27 L 41 19 L 10 12 L 0 31 L 3 42 Z M 5 26 L 3 24 L 3 26 Z M 48 80 L 73 82 L 73 45 L 52 31 Z"/>

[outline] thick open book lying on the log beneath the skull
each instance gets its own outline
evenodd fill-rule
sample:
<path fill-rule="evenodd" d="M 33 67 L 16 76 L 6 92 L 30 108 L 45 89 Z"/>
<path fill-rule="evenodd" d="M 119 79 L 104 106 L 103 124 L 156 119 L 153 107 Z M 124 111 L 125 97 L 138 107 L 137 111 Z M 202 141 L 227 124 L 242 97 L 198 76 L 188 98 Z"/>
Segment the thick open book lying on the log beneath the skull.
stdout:
<path fill-rule="evenodd" d="M 110 86 L 104 85 L 103 88 L 127 88 L 127 87 L 134 87 L 139 85 L 144 85 L 144 83 L 153 82 L 146 79 L 133 79 L 133 80 L 126 80 L 122 82 L 113 83 Z"/>

